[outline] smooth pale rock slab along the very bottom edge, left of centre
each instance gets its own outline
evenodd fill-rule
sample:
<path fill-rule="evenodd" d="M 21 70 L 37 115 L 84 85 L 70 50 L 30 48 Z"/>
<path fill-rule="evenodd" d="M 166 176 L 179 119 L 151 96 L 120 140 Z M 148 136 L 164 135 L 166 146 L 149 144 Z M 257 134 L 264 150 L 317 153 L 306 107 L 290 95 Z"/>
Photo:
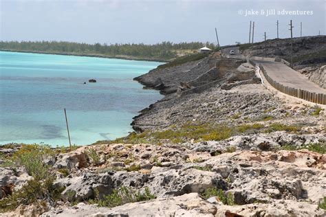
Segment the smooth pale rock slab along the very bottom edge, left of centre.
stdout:
<path fill-rule="evenodd" d="M 72 208 L 52 210 L 42 216 L 214 216 L 215 205 L 204 201 L 198 194 L 184 194 L 171 198 L 129 203 L 119 207 L 98 208 L 94 205 L 79 204 Z"/>

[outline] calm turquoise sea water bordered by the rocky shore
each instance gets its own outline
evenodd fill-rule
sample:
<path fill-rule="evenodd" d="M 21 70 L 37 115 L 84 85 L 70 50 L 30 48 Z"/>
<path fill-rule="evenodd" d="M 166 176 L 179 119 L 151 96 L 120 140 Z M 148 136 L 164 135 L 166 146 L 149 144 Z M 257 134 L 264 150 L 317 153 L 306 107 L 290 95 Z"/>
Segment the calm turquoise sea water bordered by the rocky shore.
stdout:
<path fill-rule="evenodd" d="M 67 146 L 64 108 L 72 144 L 127 135 L 132 117 L 162 98 L 132 79 L 160 64 L 0 52 L 0 144 Z"/>

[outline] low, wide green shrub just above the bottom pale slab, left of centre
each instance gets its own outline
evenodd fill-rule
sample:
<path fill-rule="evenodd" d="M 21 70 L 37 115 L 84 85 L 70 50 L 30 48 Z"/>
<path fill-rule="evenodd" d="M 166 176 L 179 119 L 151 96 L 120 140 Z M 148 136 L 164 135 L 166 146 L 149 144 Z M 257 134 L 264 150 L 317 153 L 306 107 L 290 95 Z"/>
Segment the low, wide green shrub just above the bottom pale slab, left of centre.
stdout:
<path fill-rule="evenodd" d="M 149 201 L 153 198 L 155 198 L 155 196 L 151 194 L 148 187 L 145 187 L 144 193 L 140 191 L 135 192 L 129 187 L 120 187 L 118 190 L 113 190 L 111 194 L 104 196 L 102 199 L 97 198 L 94 202 L 98 203 L 100 207 L 116 207 L 126 203 Z"/>

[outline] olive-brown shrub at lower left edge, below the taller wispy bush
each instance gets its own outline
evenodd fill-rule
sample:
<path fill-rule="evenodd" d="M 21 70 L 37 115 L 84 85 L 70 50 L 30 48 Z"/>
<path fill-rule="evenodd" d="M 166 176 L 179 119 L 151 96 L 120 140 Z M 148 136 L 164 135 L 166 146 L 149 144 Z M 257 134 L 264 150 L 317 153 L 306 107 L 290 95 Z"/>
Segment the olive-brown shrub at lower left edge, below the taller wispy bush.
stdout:
<path fill-rule="evenodd" d="M 64 187 L 54 187 L 53 176 L 48 176 L 44 181 L 32 179 L 24 185 L 21 190 L 13 192 L 12 195 L 0 200 L 0 212 L 14 210 L 19 205 L 32 203 L 53 202 L 61 198 Z"/>

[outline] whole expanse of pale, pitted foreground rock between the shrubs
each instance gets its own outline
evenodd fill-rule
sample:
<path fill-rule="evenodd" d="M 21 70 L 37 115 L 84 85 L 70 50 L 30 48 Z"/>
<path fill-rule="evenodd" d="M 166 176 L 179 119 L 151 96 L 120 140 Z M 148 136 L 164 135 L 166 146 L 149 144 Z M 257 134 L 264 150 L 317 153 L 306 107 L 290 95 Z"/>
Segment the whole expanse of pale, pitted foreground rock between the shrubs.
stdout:
<path fill-rule="evenodd" d="M 54 185 L 65 187 L 61 194 L 68 201 L 42 209 L 22 205 L 3 216 L 323 216 L 318 204 L 326 195 L 326 155 L 280 150 L 288 141 L 303 147 L 321 139 L 325 135 L 274 133 L 180 146 L 82 147 L 47 159 L 56 172 Z M 89 155 L 91 150 L 98 157 Z M 23 168 L 1 168 L 2 183 L 14 183 L 17 190 L 28 179 Z M 122 186 L 147 187 L 155 199 L 113 208 L 89 204 Z M 222 203 L 208 189 L 222 190 L 231 202 Z"/>

